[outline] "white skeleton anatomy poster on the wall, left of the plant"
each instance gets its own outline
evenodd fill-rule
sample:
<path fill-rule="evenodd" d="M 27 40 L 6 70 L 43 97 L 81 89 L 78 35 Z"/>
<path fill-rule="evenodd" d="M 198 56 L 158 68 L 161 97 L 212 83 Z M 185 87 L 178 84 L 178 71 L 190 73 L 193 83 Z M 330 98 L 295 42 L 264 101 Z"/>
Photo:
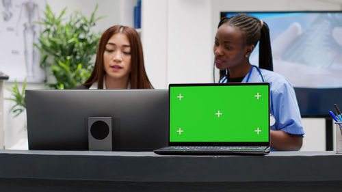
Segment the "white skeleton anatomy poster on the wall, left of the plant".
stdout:
<path fill-rule="evenodd" d="M 46 8 L 46 0 L 1 0 L 0 68 L 9 81 L 44 82 L 40 52 L 34 46 L 42 27 L 36 23 Z"/>

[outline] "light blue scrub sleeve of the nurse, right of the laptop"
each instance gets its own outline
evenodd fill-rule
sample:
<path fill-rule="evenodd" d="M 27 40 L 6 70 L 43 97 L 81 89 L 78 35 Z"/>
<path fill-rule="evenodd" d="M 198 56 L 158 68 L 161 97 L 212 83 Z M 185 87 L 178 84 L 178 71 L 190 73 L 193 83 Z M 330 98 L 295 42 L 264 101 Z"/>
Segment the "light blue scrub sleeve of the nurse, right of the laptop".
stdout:
<path fill-rule="evenodd" d="M 272 130 L 304 135 L 300 110 L 292 85 L 285 81 L 273 83 L 273 86 L 271 94 L 276 124 L 271 127 Z"/>

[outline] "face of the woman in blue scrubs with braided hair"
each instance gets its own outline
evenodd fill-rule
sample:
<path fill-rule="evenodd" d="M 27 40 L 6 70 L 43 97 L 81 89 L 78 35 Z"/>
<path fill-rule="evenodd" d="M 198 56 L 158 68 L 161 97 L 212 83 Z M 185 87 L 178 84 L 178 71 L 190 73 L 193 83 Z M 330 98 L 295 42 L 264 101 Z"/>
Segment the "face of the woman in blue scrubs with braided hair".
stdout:
<path fill-rule="evenodd" d="M 248 47 L 240 29 L 223 24 L 215 36 L 215 65 L 220 70 L 234 68 L 243 62 L 248 62 Z M 247 55 L 249 56 L 249 54 Z"/>

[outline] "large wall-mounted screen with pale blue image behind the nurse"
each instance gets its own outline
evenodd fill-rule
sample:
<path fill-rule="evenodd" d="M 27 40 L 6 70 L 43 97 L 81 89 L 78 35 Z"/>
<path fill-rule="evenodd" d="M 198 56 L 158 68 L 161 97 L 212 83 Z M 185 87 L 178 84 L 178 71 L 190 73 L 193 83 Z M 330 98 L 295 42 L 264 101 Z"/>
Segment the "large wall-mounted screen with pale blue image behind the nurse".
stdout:
<path fill-rule="evenodd" d="M 342 12 L 244 13 L 267 23 L 274 71 L 294 87 L 342 87 Z M 221 12 L 221 18 L 234 14 Z M 256 46 L 250 62 L 259 65 L 258 60 Z"/>

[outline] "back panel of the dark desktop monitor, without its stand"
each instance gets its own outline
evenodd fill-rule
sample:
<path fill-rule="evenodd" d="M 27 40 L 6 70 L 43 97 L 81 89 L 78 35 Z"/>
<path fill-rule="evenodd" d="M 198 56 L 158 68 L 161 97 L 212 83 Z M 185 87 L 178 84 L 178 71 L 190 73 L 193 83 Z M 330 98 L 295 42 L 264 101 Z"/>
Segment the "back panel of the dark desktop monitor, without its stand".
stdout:
<path fill-rule="evenodd" d="M 29 150 L 88 150 L 89 117 L 111 117 L 113 150 L 168 145 L 168 90 L 27 90 Z"/>

